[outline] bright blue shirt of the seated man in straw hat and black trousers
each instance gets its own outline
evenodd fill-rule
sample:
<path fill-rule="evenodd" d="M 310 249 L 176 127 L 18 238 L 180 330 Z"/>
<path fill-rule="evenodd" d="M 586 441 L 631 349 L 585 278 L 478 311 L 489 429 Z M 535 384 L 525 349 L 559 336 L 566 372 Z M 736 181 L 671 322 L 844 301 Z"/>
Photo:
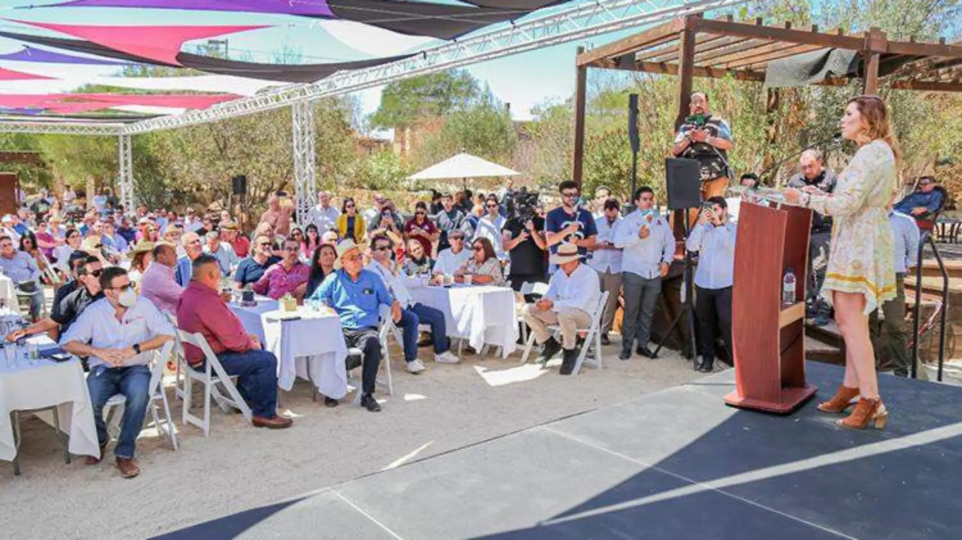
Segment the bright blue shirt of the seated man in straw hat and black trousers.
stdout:
<path fill-rule="evenodd" d="M 377 326 L 380 306 L 394 301 L 381 276 L 361 270 L 354 281 L 343 269 L 327 276 L 310 299 L 326 300 L 338 312 L 342 327 L 350 330 Z"/>

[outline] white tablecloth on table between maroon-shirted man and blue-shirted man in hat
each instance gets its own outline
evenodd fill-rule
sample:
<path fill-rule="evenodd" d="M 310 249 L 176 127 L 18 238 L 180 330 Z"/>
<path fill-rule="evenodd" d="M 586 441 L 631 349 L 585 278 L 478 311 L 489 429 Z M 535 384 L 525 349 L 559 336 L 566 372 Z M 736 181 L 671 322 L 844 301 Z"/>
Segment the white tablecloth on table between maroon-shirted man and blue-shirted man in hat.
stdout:
<path fill-rule="evenodd" d="M 300 377 L 314 381 L 317 392 L 328 398 L 342 399 L 347 394 L 347 347 L 336 315 L 301 306 L 299 321 L 282 321 L 277 300 L 269 298 L 260 298 L 254 307 L 231 304 L 231 310 L 244 329 L 277 356 L 277 385 L 281 389 L 290 391 L 294 379 Z"/>

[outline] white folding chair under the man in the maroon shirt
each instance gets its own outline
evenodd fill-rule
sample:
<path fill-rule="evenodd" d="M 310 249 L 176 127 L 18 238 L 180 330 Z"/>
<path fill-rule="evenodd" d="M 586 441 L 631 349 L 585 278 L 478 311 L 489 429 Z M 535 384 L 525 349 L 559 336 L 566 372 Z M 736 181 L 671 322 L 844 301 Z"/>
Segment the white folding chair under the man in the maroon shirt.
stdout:
<path fill-rule="evenodd" d="M 247 422 L 253 423 L 253 415 L 250 407 L 248 407 L 247 403 L 241 398 L 241 393 L 234 384 L 234 380 L 237 377 L 233 377 L 224 371 L 223 366 L 220 365 L 220 361 L 217 360 L 214 350 L 207 344 L 204 336 L 200 333 L 191 334 L 181 329 L 177 329 L 177 335 L 180 338 L 180 343 L 178 344 L 180 347 L 184 347 L 185 345 L 197 347 L 204 351 L 205 359 L 204 371 L 199 372 L 187 364 L 187 356 L 184 354 L 183 348 L 178 351 L 177 361 L 184 363 L 182 367 L 184 374 L 184 413 L 181 417 L 181 424 L 194 424 L 204 430 L 205 437 L 210 436 L 211 399 L 215 399 L 224 412 L 229 412 L 231 408 L 237 409 L 241 411 Z M 193 398 L 191 386 L 194 380 L 204 385 L 203 418 L 190 414 L 190 402 Z M 223 387 L 223 392 L 221 392 L 217 385 Z M 224 392 L 226 392 L 227 396 L 224 395 Z"/>

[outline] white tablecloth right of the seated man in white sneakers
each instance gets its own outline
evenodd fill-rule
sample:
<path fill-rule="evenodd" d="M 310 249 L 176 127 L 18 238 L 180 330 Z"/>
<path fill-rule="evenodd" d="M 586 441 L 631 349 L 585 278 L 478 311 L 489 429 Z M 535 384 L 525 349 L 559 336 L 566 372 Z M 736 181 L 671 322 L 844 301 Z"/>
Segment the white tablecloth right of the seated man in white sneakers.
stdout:
<path fill-rule="evenodd" d="M 444 287 L 412 286 L 416 302 L 441 310 L 447 323 L 447 335 L 468 338 L 478 350 L 485 344 L 501 347 L 508 356 L 515 351 L 518 321 L 515 316 L 515 292 L 507 287 L 490 285 L 455 285 Z"/>

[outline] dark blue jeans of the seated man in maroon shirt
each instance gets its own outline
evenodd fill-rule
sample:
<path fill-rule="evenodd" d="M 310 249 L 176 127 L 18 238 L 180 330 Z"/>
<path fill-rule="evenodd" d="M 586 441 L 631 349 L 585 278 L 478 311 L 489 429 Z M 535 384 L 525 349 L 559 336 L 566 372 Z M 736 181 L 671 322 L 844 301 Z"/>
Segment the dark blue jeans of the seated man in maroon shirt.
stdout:
<path fill-rule="evenodd" d="M 277 415 L 277 357 L 273 352 L 253 348 L 246 352 L 225 350 L 217 355 L 217 360 L 227 374 L 238 376 L 238 391 L 250 403 L 254 416 Z M 203 364 L 200 369 L 204 369 Z"/>

